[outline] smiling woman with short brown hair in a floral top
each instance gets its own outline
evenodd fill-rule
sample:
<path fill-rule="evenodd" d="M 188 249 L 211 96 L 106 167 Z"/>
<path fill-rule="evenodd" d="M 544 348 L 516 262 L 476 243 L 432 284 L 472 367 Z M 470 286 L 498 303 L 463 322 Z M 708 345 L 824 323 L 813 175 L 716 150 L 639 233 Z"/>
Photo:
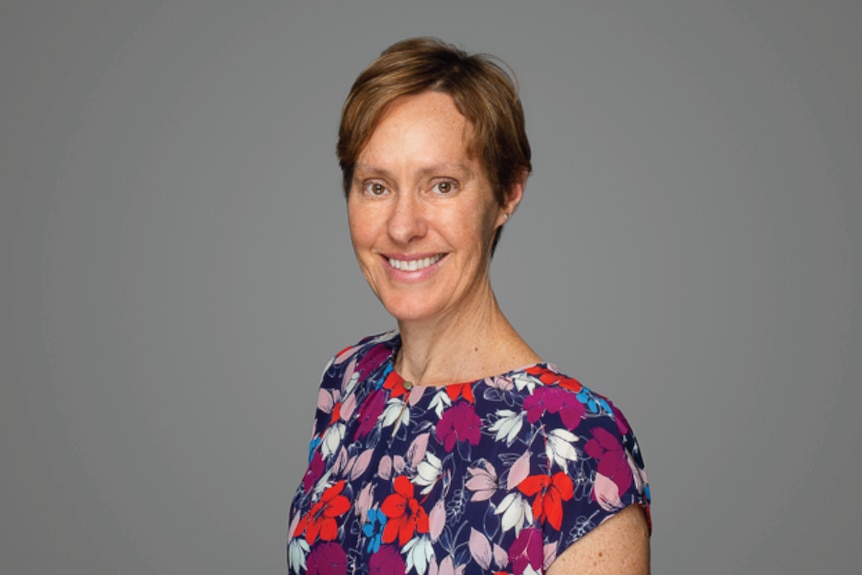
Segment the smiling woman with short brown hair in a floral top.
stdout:
<path fill-rule="evenodd" d="M 544 363 L 491 289 L 531 170 L 509 76 L 398 42 L 354 83 L 337 151 L 356 259 L 398 330 L 324 371 L 289 571 L 648 573 L 628 424 Z"/>

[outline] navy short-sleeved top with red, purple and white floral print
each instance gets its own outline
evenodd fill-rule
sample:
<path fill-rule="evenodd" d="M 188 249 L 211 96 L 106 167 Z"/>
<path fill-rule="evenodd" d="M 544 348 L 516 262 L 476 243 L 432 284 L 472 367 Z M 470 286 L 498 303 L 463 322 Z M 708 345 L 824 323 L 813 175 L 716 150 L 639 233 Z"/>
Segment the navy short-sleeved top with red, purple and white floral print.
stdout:
<path fill-rule="evenodd" d="M 640 448 L 607 399 L 539 363 L 412 386 L 396 332 L 327 365 L 288 571 L 542 573 L 626 506 L 648 513 Z"/>

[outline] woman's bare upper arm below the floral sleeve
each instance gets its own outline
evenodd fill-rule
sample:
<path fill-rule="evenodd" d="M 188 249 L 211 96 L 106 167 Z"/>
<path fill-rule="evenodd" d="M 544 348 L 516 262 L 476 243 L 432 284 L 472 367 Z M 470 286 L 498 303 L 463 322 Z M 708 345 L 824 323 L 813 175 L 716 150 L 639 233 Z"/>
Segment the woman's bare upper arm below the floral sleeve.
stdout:
<path fill-rule="evenodd" d="M 649 527 L 629 505 L 566 549 L 548 575 L 649 575 Z"/>

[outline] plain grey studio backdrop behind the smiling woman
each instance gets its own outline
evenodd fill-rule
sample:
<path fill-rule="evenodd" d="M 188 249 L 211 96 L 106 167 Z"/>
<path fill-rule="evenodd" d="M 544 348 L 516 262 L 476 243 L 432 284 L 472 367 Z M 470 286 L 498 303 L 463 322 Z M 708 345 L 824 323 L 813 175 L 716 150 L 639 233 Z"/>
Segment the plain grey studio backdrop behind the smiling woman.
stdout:
<path fill-rule="evenodd" d="M 3 2 L 0 572 L 285 571 L 320 370 L 393 325 L 338 112 L 423 34 L 520 78 L 494 284 L 629 416 L 654 572 L 857 572 L 860 6 Z"/>

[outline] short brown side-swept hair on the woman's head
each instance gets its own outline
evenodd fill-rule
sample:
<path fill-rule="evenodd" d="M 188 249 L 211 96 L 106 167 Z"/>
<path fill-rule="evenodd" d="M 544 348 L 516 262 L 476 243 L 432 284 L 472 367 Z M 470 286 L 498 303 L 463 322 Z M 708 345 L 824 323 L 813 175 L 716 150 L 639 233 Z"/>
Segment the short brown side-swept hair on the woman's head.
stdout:
<path fill-rule="evenodd" d="M 532 171 L 517 84 L 492 56 L 470 55 L 437 38 L 396 42 L 353 83 L 336 148 L 344 195 L 350 193 L 359 154 L 392 102 L 425 91 L 450 95 L 470 122 L 468 150 L 481 157 L 494 197 L 503 205 L 511 186 Z M 498 238 L 499 233 L 494 246 Z"/>

